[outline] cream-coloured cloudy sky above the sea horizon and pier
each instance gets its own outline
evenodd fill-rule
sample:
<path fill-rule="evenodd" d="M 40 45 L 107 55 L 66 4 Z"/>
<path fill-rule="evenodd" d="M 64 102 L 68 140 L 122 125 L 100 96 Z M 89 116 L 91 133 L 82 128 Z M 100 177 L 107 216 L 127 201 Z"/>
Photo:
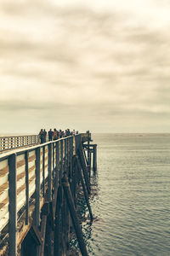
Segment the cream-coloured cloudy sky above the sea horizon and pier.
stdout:
<path fill-rule="evenodd" d="M 169 0 L 1 0 L 0 134 L 169 132 L 169 13 Z"/>

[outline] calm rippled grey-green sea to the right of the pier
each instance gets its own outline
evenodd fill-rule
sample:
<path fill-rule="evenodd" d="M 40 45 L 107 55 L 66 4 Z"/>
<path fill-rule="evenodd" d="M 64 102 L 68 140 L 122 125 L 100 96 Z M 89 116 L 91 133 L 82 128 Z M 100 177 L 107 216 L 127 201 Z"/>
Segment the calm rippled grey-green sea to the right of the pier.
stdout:
<path fill-rule="evenodd" d="M 89 255 L 170 255 L 170 135 L 93 135 Z"/>

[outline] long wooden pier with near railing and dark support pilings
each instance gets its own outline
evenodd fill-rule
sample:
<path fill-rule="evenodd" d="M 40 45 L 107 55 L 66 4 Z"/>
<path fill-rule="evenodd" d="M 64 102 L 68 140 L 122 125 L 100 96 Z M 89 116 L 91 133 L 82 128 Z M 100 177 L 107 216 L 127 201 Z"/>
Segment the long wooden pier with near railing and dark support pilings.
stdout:
<path fill-rule="evenodd" d="M 25 142 L 29 140 L 25 138 Z M 27 143 L 25 148 L 20 148 L 25 145 L 17 144 L 16 139 L 12 147 L 16 149 L 1 152 L 0 255 L 71 255 L 73 230 L 80 252 L 88 255 L 76 201 L 81 186 L 93 221 L 88 196 L 92 154 L 94 172 L 97 156 L 96 144 L 90 142 L 89 131 L 33 145 L 37 143 L 35 137 L 30 141 L 32 145 L 28 147 Z"/>

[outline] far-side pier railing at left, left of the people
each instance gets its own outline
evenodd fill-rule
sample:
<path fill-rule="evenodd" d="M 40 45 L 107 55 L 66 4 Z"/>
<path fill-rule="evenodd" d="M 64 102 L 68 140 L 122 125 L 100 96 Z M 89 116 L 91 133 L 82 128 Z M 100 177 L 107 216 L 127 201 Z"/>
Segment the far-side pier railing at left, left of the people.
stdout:
<path fill-rule="evenodd" d="M 0 137 L 0 152 L 39 143 L 38 135 Z"/>

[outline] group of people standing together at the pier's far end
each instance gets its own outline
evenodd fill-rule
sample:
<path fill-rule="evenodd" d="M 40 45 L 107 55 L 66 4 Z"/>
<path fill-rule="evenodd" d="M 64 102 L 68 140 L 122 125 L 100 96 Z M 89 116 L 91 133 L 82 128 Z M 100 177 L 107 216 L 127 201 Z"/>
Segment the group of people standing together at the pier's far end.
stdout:
<path fill-rule="evenodd" d="M 56 128 L 54 128 L 54 131 L 52 131 L 52 129 L 49 129 L 48 133 L 45 129 L 41 129 L 41 131 L 39 132 L 39 138 L 42 144 L 47 142 L 47 138 L 48 142 L 50 142 L 58 140 L 61 137 L 75 136 L 76 134 L 78 134 L 78 131 L 70 131 L 70 129 L 66 129 L 65 131 L 59 129 L 58 131 Z"/>

